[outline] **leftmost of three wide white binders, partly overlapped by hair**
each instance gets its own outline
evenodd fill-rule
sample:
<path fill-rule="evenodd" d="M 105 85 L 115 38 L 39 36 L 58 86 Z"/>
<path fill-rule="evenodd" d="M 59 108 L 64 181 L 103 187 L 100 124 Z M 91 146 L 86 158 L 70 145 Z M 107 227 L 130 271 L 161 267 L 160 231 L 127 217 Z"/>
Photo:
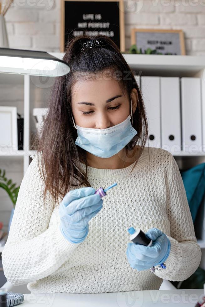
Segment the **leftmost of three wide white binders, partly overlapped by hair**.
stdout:
<path fill-rule="evenodd" d="M 142 76 L 140 84 L 148 119 L 149 135 L 145 146 L 160 148 L 160 77 Z"/>

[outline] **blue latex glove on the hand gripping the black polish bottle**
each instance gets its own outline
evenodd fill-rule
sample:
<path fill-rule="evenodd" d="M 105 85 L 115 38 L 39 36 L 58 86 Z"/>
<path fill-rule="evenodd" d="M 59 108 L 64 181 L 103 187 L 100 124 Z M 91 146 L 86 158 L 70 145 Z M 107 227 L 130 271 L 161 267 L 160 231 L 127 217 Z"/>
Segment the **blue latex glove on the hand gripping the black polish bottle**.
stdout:
<path fill-rule="evenodd" d="M 170 253 L 170 240 L 160 229 L 150 228 L 145 234 L 153 241 L 152 246 L 129 242 L 126 251 L 130 266 L 138 271 L 160 265 Z"/>

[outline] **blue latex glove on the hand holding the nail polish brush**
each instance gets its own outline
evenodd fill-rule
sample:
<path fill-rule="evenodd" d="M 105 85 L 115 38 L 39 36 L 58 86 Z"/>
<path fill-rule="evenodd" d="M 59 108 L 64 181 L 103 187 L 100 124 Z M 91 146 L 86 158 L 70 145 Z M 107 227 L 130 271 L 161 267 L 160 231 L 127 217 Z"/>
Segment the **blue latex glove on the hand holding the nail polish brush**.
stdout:
<path fill-rule="evenodd" d="M 100 195 L 94 193 L 92 187 L 71 190 L 60 203 L 60 231 L 71 243 L 85 240 L 89 231 L 88 222 L 103 207 Z"/>

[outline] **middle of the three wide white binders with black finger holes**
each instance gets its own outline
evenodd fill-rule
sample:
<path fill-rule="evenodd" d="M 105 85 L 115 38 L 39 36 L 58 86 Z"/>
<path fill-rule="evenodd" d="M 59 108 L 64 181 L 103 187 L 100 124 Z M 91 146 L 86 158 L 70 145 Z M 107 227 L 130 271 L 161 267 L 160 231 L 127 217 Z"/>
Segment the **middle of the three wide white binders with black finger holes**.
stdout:
<path fill-rule="evenodd" d="M 179 77 L 160 77 L 161 148 L 181 151 L 181 110 Z"/>

